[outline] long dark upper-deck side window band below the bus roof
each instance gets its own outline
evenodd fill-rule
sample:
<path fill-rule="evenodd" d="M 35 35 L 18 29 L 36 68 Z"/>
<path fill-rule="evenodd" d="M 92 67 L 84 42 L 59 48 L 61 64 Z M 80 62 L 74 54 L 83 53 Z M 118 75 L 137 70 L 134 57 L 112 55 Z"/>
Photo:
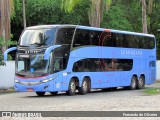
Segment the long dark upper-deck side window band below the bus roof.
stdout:
<path fill-rule="evenodd" d="M 73 47 L 96 45 L 107 47 L 153 49 L 153 37 L 77 29 Z"/>

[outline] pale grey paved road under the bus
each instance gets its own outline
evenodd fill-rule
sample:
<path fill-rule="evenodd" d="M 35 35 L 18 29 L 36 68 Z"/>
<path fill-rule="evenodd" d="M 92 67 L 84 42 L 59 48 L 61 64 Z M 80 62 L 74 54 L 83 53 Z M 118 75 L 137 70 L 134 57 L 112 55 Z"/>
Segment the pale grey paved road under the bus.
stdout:
<path fill-rule="evenodd" d="M 155 83 L 149 88 L 160 88 Z M 35 93 L 0 95 L 0 111 L 160 111 L 160 95 L 148 95 L 144 90 L 92 91 L 87 95 L 67 96 L 60 93 L 38 97 Z"/>

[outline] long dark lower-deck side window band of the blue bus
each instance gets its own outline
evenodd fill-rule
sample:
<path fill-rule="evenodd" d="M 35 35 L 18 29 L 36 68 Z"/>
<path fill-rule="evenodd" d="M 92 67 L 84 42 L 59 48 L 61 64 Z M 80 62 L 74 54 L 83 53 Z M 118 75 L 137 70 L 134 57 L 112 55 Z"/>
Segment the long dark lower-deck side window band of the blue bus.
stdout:
<path fill-rule="evenodd" d="M 88 58 L 75 62 L 73 72 L 130 71 L 132 67 L 132 59 Z"/>

